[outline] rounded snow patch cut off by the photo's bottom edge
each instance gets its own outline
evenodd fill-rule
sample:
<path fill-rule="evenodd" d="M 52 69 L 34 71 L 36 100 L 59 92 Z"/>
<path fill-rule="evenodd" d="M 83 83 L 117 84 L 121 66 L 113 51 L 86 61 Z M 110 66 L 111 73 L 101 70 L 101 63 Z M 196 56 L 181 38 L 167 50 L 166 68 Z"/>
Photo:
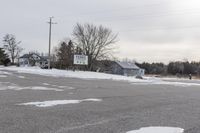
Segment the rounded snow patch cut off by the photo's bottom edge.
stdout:
<path fill-rule="evenodd" d="M 183 133 L 184 129 L 175 127 L 146 127 L 126 133 Z"/>

